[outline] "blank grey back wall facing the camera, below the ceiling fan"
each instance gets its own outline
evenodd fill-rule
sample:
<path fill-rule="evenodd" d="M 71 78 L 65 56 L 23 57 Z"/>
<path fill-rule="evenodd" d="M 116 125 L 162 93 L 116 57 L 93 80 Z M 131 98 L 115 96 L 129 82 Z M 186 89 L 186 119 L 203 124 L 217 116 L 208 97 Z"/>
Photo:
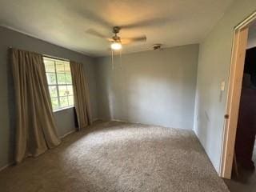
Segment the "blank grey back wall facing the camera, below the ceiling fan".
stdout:
<path fill-rule="evenodd" d="M 99 118 L 193 128 L 198 45 L 96 61 Z"/>

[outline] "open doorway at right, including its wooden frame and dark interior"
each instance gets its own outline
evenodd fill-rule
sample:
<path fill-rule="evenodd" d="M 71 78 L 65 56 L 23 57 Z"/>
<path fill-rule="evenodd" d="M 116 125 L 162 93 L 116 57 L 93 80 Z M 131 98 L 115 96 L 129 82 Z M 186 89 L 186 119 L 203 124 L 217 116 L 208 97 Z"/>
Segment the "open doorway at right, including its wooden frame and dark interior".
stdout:
<path fill-rule="evenodd" d="M 249 171 L 256 183 L 256 13 L 235 28 L 225 118 L 221 176 L 239 178 Z"/>

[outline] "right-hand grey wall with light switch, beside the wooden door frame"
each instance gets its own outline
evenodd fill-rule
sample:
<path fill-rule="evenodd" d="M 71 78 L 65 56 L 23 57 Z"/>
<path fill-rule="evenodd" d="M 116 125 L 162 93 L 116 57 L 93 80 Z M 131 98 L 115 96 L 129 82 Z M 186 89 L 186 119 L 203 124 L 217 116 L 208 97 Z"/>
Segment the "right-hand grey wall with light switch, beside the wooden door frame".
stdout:
<path fill-rule="evenodd" d="M 254 10 L 255 0 L 234 1 L 200 44 L 194 131 L 218 172 L 227 93 L 221 92 L 221 82 L 228 84 L 234 27 Z"/>

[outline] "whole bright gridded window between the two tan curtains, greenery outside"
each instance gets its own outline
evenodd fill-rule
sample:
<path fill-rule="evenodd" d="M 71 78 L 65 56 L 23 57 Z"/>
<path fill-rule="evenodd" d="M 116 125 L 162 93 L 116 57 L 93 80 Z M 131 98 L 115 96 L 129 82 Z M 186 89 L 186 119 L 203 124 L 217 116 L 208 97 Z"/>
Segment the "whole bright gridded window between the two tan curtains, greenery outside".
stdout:
<path fill-rule="evenodd" d="M 44 57 L 43 60 L 53 110 L 74 106 L 70 62 L 47 57 Z"/>

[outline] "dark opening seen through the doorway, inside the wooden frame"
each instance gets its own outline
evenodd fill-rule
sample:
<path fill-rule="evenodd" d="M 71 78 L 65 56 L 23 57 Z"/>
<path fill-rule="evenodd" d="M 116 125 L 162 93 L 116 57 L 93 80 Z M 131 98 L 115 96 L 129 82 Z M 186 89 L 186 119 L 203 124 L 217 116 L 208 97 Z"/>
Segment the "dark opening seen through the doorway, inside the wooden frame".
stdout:
<path fill-rule="evenodd" d="M 231 192 L 256 189 L 256 22 L 249 27 L 242 90 L 234 145 Z"/>

